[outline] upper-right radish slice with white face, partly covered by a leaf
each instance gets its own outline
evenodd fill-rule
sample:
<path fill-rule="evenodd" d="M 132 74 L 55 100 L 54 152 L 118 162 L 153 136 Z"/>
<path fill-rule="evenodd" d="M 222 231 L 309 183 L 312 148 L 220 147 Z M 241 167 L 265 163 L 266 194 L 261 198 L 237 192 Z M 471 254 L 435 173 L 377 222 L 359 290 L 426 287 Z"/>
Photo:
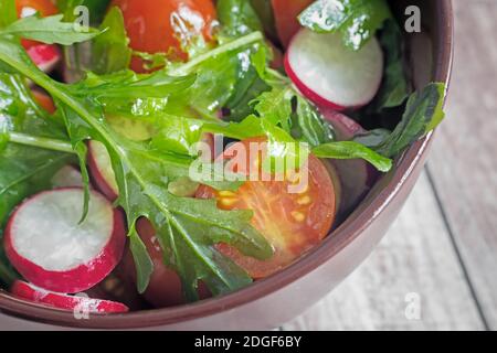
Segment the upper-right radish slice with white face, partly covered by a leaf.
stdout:
<path fill-rule="evenodd" d="M 338 33 L 302 29 L 285 56 L 285 69 L 315 104 L 343 110 L 374 98 L 383 76 L 383 53 L 377 39 L 361 50 L 347 49 Z"/>

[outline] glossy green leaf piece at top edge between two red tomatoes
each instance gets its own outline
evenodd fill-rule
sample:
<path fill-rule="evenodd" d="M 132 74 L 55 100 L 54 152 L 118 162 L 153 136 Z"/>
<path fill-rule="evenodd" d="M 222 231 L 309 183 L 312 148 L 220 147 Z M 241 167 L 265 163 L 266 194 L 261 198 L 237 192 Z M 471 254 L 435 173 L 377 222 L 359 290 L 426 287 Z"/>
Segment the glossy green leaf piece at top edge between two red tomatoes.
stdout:
<path fill-rule="evenodd" d="M 219 0 L 216 7 L 224 35 L 237 38 L 263 30 L 261 20 L 250 1 Z"/>

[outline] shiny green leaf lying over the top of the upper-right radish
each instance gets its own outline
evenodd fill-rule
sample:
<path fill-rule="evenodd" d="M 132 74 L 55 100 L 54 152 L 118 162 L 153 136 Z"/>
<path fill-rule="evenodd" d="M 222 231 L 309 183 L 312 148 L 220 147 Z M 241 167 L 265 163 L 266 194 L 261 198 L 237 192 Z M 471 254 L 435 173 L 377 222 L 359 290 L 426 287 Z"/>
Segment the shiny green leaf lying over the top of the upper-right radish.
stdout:
<path fill-rule="evenodd" d="M 358 51 L 391 17 L 385 0 L 317 0 L 298 20 L 314 32 L 340 32 L 343 44 Z"/>

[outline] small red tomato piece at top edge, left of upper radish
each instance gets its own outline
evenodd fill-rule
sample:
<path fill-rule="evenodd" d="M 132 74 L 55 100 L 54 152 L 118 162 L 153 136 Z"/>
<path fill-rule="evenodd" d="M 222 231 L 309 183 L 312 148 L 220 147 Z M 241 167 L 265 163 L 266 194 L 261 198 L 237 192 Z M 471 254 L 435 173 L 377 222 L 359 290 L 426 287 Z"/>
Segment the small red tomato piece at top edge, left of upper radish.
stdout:
<path fill-rule="evenodd" d="M 314 0 L 272 0 L 276 22 L 276 31 L 283 46 L 287 47 L 292 38 L 300 29 L 297 17 Z"/>

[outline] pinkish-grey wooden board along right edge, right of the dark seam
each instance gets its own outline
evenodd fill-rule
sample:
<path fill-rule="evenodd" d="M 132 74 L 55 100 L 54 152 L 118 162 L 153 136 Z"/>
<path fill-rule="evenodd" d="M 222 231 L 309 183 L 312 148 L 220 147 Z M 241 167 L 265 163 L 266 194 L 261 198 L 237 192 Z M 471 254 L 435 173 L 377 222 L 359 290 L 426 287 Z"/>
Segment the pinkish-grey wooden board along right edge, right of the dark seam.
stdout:
<path fill-rule="evenodd" d="M 482 312 L 497 330 L 497 1 L 454 2 L 447 120 L 429 170 Z"/>

